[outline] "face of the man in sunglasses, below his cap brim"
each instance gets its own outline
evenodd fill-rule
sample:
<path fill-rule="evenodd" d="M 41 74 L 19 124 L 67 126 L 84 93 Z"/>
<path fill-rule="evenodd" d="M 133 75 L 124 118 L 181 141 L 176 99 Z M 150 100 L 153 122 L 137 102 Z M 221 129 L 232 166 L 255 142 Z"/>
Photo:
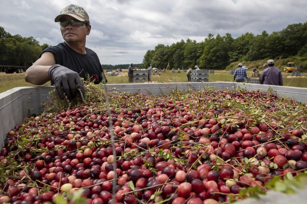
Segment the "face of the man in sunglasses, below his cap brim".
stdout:
<path fill-rule="evenodd" d="M 60 22 L 76 20 L 71 16 L 63 16 Z M 76 20 L 77 21 L 77 20 Z M 62 37 L 66 42 L 84 42 L 86 36 L 90 34 L 91 25 L 84 24 L 80 27 L 73 27 L 71 23 L 67 27 L 60 26 Z"/>

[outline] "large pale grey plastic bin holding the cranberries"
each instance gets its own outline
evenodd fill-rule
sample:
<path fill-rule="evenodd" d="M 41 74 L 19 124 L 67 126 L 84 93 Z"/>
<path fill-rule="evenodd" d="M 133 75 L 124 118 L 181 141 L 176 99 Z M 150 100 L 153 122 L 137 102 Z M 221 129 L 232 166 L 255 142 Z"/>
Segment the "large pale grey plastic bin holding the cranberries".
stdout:
<path fill-rule="evenodd" d="M 204 87 L 214 86 L 216 90 L 235 89 L 237 87 L 246 87 L 247 90 L 268 90 L 272 88 L 279 97 L 290 97 L 301 103 L 307 103 L 307 88 L 285 87 L 285 86 L 269 86 L 260 84 L 245 84 L 237 82 L 192 82 L 192 83 L 150 83 L 150 84 L 109 84 L 108 89 L 117 88 L 122 92 L 130 92 L 131 94 L 141 92 L 144 94 L 162 94 L 169 93 L 174 90 L 183 89 L 204 89 Z M 18 87 L 0 93 L 0 147 L 6 138 L 9 130 L 16 124 L 21 124 L 25 116 L 33 113 L 41 112 L 41 102 L 46 100 L 52 87 Z M 247 199 L 238 203 L 303 203 L 307 199 L 305 193 L 306 188 L 299 190 L 298 194 L 286 195 L 270 191 L 269 196 L 261 196 L 261 200 Z M 280 198 L 280 199 L 278 199 Z"/>

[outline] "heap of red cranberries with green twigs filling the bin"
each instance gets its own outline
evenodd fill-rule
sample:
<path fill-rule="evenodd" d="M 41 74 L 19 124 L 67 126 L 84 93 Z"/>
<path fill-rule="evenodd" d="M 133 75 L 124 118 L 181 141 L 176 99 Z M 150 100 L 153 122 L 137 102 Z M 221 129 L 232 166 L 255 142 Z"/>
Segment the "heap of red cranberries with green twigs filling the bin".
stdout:
<path fill-rule="evenodd" d="M 111 100 L 111 115 L 91 103 L 10 130 L 0 204 L 70 202 L 79 189 L 89 204 L 215 204 L 307 169 L 306 104 L 260 90 L 128 97 Z"/>

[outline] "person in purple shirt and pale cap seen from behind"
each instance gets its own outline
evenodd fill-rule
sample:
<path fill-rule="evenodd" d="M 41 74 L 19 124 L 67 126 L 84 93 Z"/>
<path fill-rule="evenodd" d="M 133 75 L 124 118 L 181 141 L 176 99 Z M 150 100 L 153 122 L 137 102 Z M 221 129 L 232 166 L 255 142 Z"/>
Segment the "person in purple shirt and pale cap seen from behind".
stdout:
<path fill-rule="evenodd" d="M 274 60 L 267 61 L 268 67 L 264 69 L 259 77 L 260 84 L 283 86 L 282 72 L 274 67 Z"/>

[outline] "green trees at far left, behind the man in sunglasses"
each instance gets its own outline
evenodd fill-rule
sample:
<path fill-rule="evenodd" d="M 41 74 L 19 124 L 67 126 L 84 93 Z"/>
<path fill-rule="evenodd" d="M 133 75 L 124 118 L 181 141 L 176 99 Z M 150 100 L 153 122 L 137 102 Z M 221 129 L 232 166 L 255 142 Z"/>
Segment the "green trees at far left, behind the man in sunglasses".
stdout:
<path fill-rule="evenodd" d="M 48 44 L 40 46 L 33 37 L 12 36 L 0 27 L 0 65 L 27 67 L 47 47 Z"/>

